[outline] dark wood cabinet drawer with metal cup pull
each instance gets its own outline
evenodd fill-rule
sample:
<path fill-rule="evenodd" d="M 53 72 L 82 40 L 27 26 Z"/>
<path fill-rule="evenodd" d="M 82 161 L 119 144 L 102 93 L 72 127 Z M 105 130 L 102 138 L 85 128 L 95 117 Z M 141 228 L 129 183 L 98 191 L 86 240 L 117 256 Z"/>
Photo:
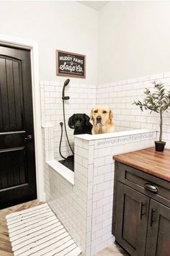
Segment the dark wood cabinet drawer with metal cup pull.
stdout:
<path fill-rule="evenodd" d="M 116 169 L 117 181 L 127 184 L 133 189 L 170 207 L 170 182 L 117 161 Z"/>

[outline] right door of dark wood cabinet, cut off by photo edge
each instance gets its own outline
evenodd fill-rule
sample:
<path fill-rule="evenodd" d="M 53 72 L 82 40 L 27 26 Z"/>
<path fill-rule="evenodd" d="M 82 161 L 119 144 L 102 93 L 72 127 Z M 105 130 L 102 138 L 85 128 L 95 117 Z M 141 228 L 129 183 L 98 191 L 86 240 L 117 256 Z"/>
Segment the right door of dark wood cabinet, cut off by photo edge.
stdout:
<path fill-rule="evenodd" d="M 170 255 L 170 208 L 151 200 L 146 256 Z"/>

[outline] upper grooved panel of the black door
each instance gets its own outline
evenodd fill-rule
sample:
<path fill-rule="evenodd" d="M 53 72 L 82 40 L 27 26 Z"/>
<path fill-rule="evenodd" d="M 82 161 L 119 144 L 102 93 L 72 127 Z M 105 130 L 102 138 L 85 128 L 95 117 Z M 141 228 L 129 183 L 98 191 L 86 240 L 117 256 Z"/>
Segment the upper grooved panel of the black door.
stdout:
<path fill-rule="evenodd" d="M 0 132 L 19 131 L 23 124 L 22 62 L 0 55 Z"/>

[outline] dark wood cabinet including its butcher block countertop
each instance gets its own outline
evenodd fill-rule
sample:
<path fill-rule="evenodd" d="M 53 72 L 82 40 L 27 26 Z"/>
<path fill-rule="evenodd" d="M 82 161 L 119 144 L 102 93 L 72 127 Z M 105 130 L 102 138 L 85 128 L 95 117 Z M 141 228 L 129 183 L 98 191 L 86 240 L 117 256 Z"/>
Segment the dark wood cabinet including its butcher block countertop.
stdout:
<path fill-rule="evenodd" d="M 112 234 L 131 256 L 170 255 L 170 150 L 115 155 Z"/>

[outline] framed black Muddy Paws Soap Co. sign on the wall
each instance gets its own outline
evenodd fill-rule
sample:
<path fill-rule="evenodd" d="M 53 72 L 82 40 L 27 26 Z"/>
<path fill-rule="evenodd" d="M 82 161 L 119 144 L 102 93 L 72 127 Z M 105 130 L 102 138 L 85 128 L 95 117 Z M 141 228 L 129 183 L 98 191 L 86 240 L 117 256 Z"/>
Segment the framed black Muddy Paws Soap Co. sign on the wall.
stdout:
<path fill-rule="evenodd" d="M 86 77 L 86 56 L 67 51 L 56 51 L 57 75 L 62 77 Z"/>

